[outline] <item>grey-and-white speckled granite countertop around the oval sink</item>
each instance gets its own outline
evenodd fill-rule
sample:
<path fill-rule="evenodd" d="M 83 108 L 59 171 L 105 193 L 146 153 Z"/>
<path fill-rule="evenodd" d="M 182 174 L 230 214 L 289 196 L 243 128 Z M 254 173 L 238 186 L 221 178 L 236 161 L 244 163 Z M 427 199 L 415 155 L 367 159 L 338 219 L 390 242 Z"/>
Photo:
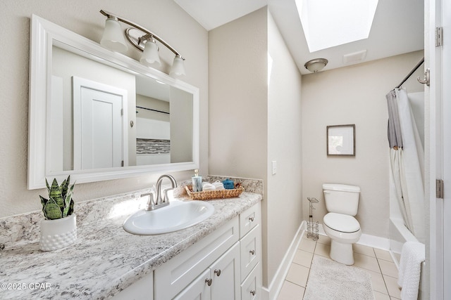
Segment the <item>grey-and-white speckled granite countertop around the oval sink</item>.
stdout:
<path fill-rule="evenodd" d="M 31 237 L 6 242 L 0 250 L 0 299 L 111 298 L 252 207 L 262 196 L 242 193 L 240 197 L 211 200 L 215 211 L 209 219 L 161 235 L 125 232 L 123 221 L 144 202 L 139 197 L 123 198 L 109 200 L 109 213 L 104 218 L 96 219 L 96 211 L 77 216 L 77 240 L 64 249 L 42 252 L 39 238 Z M 0 220 L 0 237 L 1 227 L 11 230 Z"/>

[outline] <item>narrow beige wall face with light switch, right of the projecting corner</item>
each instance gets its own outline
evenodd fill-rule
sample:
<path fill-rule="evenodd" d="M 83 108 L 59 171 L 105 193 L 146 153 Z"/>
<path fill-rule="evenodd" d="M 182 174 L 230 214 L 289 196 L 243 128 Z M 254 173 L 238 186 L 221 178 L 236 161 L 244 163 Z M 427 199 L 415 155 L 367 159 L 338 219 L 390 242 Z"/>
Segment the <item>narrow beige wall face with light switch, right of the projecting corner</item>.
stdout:
<path fill-rule="evenodd" d="M 301 74 L 268 15 L 268 283 L 302 223 Z M 277 171 L 272 174 L 272 162 Z"/>

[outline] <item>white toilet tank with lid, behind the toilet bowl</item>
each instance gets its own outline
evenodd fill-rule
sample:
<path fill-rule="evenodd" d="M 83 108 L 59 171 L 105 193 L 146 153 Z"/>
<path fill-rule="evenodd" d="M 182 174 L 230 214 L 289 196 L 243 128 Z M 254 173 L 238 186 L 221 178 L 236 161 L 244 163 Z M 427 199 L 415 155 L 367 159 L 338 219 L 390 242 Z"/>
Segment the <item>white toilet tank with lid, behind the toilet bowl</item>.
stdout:
<path fill-rule="evenodd" d="M 359 208 L 360 188 L 357 185 L 323 184 L 324 201 L 328 212 L 355 216 Z"/>

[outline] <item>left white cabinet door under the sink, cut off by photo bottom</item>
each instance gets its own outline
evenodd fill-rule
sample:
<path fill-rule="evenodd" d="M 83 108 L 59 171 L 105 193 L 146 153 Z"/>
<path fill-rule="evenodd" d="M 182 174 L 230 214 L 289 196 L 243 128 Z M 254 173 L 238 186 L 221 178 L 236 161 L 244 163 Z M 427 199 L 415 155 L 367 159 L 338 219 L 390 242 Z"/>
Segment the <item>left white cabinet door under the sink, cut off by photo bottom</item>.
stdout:
<path fill-rule="evenodd" d="M 211 300 L 211 284 L 213 282 L 210 269 L 206 269 L 190 285 L 185 287 L 173 300 Z"/>

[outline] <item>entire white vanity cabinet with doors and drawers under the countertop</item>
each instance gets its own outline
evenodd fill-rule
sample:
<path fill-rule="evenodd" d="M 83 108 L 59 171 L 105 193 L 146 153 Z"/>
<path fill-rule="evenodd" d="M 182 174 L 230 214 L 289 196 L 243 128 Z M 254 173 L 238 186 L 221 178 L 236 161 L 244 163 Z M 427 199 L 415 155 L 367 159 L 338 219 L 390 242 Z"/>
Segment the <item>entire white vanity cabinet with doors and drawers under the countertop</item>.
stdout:
<path fill-rule="evenodd" d="M 257 300 L 261 277 L 259 202 L 113 299 Z"/>

